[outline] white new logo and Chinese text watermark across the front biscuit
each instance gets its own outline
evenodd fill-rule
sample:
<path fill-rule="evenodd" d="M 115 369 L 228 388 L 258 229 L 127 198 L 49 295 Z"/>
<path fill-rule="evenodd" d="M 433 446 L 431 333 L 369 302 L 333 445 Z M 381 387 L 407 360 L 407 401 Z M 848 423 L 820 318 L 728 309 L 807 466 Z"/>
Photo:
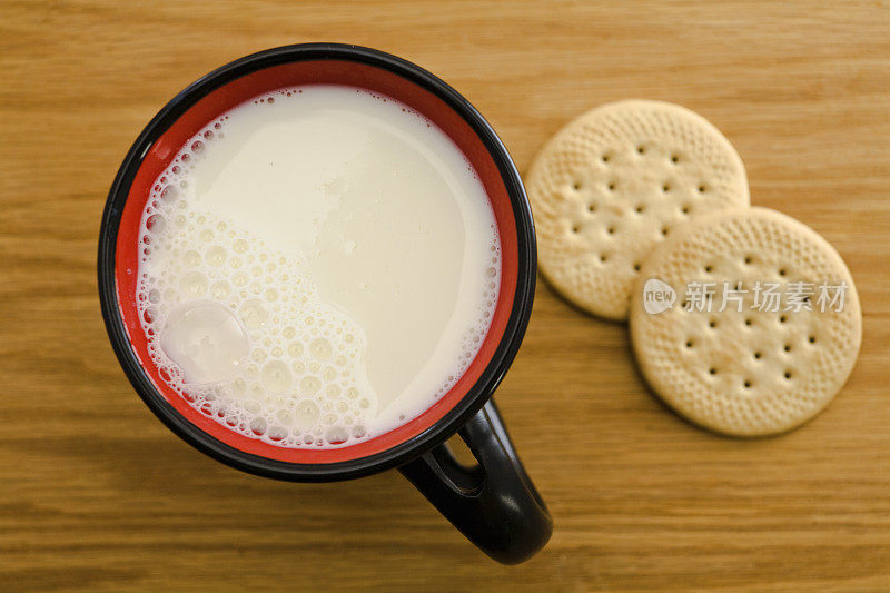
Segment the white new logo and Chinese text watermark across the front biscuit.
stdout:
<path fill-rule="evenodd" d="M 689 313 L 721 313 L 726 309 L 741 313 L 746 304 L 749 310 L 768 313 L 840 313 L 843 310 L 848 287 L 846 280 L 820 284 L 758 280 L 751 286 L 745 286 L 742 281 L 691 281 L 685 286 L 681 307 Z M 643 308 L 649 314 L 657 315 L 671 309 L 676 300 L 676 290 L 663 280 L 650 278 L 643 285 Z"/>

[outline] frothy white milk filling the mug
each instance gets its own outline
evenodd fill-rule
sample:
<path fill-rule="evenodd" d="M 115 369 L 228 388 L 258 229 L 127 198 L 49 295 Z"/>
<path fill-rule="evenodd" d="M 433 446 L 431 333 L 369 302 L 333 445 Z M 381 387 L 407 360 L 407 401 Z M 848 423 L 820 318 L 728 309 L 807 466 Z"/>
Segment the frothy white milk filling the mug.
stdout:
<path fill-rule="evenodd" d="M 353 444 L 428 408 L 487 332 L 501 248 L 434 123 L 307 86 L 210 122 L 142 216 L 139 306 L 192 406 L 286 447 Z"/>

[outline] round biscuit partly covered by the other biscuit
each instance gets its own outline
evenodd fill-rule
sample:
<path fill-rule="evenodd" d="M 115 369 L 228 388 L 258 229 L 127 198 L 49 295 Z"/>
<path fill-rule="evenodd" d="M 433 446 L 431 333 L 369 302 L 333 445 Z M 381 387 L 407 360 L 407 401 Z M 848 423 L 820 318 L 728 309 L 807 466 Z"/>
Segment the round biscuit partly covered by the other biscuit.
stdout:
<path fill-rule="evenodd" d="M 607 103 L 570 122 L 535 158 L 526 188 L 545 278 L 614 320 L 627 318 L 640 265 L 674 227 L 750 204 L 729 140 L 689 109 L 647 100 Z"/>

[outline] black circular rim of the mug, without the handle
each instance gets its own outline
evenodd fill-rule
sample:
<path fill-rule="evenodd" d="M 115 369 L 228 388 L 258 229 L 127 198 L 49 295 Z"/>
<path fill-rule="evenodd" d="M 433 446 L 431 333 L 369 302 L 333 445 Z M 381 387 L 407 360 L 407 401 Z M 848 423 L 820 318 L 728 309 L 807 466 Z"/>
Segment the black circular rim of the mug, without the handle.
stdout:
<path fill-rule="evenodd" d="M 386 451 L 336 463 L 301 464 L 245 453 L 205 433 L 186 419 L 158 392 L 134 352 L 118 306 L 115 256 L 118 227 L 130 186 L 151 145 L 195 102 L 237 78 L 268 67 L 305 60 L 345 60 L 375 66 L 433 92 L 454 109 L 478 136 L 497 166 L 510 197 L 517 235 L 518 274 L 513 307 L 492 359 L 466 395 L 438 422 Z M 146 126 L 125 157 L 102 214 L 98 280 L 102 317 L 115 354 L 149 409 L 177 436 L 237 470 L 295 482 L 349 480 L 403 465 L 444 443 L 476 414 L 494 393 L 516 356 L 532 313 L 537 266 L 534 221 L 522 179 L 510 154 L 482 115 L 446 82 L 407 60 L 384 51 L 345 43 L 298 43 L 239 58 L 201 77 L 171 99 Z"/>

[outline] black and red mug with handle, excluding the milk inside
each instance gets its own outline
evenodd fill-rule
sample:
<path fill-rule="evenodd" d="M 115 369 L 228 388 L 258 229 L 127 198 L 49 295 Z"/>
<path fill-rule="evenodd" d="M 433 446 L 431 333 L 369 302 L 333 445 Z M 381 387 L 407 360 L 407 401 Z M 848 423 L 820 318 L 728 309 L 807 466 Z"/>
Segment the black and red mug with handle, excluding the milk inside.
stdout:
<path fill-rule="evenodd" d="M 476 169 L 494 210 L 502 283 L 492 324 L 454 387 L 406 424 L 358 444 L 285 448 L 249 438 L 191 407 L 151 362 L 139 318 L 139 225 L 152 184 L 204 126 L 257 95 L 299 85 L 345 85 L 392 97 L 444 130 Z M 226 65 L 176 96 L 139 135 L 108 196 L 99 237 L 99 291 L 106 328 L 123 370 L 174 433 L 238 470 L 295 482 L 399 471 L 491 557 L 518 563 L 550 538 L 546 505 L 490 401 L 520 347 L 535 288 L 536 248 L 520 175 L 492 127 L 469 102 L 426 70 L 380 51 L 306 43 Z M 398 364 L 394 360 L 393 364 Z M 477 459 L 461 464 L 445 443 L 459 434 Z"/>

